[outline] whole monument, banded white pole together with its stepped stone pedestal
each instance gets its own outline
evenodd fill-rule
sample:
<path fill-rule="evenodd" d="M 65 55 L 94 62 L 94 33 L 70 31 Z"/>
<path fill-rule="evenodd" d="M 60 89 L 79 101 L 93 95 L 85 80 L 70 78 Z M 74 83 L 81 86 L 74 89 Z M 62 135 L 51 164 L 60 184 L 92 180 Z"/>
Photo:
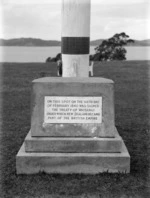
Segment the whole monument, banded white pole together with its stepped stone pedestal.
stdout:
<path fill-rule="evenodd" d="M 63 77 L 32 82 L 31 130 L 17 174 L 130 172 L 115 127 L 114 82 L 89 78 L 90 0 L 62 2 Z"/>

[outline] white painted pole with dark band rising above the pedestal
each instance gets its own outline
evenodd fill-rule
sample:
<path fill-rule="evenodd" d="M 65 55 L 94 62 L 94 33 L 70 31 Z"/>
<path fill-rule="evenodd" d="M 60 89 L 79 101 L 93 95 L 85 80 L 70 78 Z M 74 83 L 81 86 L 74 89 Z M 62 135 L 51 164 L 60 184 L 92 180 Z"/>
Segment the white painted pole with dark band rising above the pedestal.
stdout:
<path fill-rule="evenodd" d="M 89 76 L 91 0 L 62 0 L 63 77 Z"/>

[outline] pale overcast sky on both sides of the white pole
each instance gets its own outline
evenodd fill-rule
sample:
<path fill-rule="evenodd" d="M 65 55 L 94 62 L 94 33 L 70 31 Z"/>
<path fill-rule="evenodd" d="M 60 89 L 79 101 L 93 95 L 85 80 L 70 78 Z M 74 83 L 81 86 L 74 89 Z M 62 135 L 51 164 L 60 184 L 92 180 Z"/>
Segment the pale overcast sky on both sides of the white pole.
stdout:
<path fill-rule="evenodd" d="M 0 38 L 61 40 L 61 1 L 0 0 Z M 150 0 L 91 0 L 91 40 L 120 32 L 150 39 Z"/>

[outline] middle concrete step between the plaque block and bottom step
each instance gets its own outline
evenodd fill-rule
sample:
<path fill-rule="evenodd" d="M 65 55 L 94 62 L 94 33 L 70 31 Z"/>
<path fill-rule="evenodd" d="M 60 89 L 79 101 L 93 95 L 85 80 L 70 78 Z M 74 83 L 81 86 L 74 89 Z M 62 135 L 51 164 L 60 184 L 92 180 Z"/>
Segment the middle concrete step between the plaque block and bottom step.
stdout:
<path fill-rule="evenodd" d="M 119 153 L 122 138 L 116 131 L 114 138 L 32 137 L 25 138 L 26 152 Z"/>

